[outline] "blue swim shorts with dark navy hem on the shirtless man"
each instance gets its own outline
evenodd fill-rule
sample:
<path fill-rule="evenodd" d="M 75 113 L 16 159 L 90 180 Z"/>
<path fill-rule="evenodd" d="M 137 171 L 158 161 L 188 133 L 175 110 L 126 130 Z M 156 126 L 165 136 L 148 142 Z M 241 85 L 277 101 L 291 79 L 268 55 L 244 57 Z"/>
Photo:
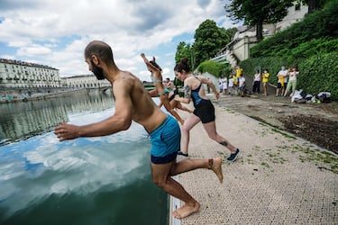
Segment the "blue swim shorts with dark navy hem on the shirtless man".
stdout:
<path fill-rule="evenodd" d="M 176 160 L 180 148 L 181 131 L 172 116 L 151 133 L 151 162 L 166 164 Z"/>

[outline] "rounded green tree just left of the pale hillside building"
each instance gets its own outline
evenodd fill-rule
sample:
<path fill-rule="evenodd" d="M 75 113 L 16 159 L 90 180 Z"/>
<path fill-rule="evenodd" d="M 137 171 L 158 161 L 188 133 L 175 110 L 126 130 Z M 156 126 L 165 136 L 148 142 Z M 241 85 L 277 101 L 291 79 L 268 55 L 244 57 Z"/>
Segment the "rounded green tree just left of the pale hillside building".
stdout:
<path fill-rule="evenodd" d="M 195 42 L 192 46 L 192 68 L 201 62 L 214 58 L 216 53 L 230 42 L 231 31 L 217 27 L 212 20 L 201 23 L 195 31 Z"/>

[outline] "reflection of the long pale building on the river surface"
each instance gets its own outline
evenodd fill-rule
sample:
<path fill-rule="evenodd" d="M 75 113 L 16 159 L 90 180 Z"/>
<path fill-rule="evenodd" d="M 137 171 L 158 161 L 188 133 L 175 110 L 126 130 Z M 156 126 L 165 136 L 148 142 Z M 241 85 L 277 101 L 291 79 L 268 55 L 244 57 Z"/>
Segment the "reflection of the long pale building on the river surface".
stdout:
<path fill-rule="evenodd" d="M 27 139 L 49 131 L 60 121 L 69 121 L 68 113 L 102 111 L 114 106 L 109 94 L 73 94 L 62 98 L 0 104 L 0 145 Z"/>

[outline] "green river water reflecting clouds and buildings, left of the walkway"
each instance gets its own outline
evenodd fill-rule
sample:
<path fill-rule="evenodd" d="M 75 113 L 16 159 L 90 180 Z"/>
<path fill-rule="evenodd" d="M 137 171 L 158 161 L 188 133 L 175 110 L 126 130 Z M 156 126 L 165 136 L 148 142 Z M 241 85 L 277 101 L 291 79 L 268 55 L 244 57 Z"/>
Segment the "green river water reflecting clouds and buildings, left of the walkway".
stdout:
<path fill-rule="evenodd" d="M 168 224 L 168 195 L 151 181 L 141 125 L 59 142 L 53 128 L 101 121 L 111 94 L 0 104 L 0 224 Z"/>

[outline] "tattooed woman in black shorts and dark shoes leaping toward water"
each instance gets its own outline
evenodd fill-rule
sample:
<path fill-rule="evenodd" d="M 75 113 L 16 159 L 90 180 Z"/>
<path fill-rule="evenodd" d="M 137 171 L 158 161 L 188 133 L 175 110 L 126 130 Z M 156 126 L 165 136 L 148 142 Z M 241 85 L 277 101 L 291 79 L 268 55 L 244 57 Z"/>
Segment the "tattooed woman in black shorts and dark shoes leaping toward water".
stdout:
<path fill-rule="evenodd" d="M 176 99 L 182 103 L 190 103 L 192 101 L 195 106 L 193 113 L 188 115 L 187 120 L 182 126 L 182 143 L 179 155 L 188 157 L 187 148 L 189 143 L 189 132 L 200 121 L 206 130 L 210 139 L 214 139 L 219 144 L 228 148 L 231 151 L 228 161 L 235 161 L 240 153 L 239 148 L 235 148 L 227 139 L 219 135 L 216 130 L 215 124 L 215 107 L 213 103 L 206 97 L 203 84 L 209 85 L 216 99 L 219 99 L 220 94 L 217 92 L 215 85 L 212 81 L 205 76 L 195 76 L 191 73 L 190 67 L 187 65 L 187 58 L 182 58 L 181 61 L 175 66 L 175 76 L 184 82 L 185 97 L 176 96 Z"/>

